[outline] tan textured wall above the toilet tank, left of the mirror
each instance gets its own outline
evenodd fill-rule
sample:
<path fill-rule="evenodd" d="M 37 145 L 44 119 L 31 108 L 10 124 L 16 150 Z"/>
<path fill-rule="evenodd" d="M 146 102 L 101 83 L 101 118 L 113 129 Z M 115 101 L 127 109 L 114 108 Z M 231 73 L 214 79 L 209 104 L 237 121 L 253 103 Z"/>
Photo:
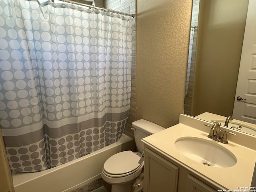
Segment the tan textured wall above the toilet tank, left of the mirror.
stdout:
<path fill-rule="evenodd" d="M 192 0 L 136 6 L 136 119 L 167 128 L 183 112 Z"/>

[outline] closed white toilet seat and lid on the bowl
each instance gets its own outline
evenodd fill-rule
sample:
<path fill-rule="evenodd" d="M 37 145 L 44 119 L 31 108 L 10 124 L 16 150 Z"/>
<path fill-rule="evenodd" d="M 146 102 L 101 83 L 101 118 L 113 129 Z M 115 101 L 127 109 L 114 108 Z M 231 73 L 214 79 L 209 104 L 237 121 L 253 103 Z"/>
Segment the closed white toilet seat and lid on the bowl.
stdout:
<path fill-rule="evenodd" d="M 144 163 L 139 164 L 140 156 L 132 151 L 114 154 L 104 163 L 102 172 L 109 177 L 123 177 L 138 171 Z"/>

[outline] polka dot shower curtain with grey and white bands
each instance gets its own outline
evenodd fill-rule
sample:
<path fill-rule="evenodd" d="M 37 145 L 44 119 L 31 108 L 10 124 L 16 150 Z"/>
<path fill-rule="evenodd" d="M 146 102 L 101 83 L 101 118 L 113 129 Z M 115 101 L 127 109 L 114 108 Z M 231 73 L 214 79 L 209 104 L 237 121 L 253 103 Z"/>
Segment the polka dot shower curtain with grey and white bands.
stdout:
<path fill-rule="evenodd" d="M 132 18 L 53 2 L 0 0 L 0 125 L 17 172 L 38 172 L 121 137 Z"/>

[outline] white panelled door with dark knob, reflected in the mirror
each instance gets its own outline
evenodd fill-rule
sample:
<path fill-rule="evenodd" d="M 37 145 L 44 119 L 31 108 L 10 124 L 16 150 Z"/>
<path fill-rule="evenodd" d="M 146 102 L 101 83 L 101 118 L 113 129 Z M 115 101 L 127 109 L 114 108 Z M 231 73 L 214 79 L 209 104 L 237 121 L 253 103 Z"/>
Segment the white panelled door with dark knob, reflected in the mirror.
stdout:
<path fill-rule="evenodd" d="M 249 0 L 233 118 L 256 124 L 256 0 Z"/>

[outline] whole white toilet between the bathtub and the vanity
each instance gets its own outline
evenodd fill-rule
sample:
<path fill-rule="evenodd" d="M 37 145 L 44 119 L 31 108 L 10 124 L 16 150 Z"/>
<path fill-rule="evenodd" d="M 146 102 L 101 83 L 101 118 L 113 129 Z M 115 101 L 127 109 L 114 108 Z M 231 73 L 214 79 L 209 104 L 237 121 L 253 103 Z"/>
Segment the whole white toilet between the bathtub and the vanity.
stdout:
<path fill-rule="evenodd" d="M 141 192 L 142 187 L 132 190 L 132 183 L 141 175 L 144 161 L 142 138 L 160 132 L 165 128 L 144 119 L 132 123 L 134 138 L 138 152 L 130 150 L 114 154 L 106 160 L 101 176 L 112 185 L 111 192 Z"/>

